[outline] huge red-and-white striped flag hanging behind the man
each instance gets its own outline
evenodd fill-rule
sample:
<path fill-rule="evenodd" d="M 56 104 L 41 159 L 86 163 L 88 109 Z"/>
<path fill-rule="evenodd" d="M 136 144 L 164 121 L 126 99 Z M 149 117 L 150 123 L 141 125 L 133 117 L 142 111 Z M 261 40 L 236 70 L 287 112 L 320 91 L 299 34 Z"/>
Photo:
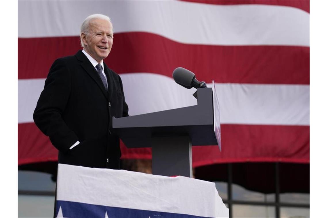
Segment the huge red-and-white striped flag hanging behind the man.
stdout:
<path fill-rule="evenodd" d="M 18 165 L 56 161 L 33 110 L 52 62 L 74 55 L 80 25 L 108 15 L 114 39 L 105 63 L 120 74 L 129 114 L 196 104 L 174 82 L 184 67 L 215 81 L 222 151 L 193 147 L 193 166 L 309 163 L 309 1 L 19 1 Z M 83 117 L 81 117 L 83 119 Z M 122 158 L 151 158 L 127 149 Z"/>

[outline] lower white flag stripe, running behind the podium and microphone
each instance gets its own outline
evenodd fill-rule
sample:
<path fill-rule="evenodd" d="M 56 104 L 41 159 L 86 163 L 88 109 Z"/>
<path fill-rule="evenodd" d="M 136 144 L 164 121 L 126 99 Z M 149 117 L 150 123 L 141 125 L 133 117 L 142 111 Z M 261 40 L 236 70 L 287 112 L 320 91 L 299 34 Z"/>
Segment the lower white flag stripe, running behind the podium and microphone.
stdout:
<path fill-rule="evenodd" d="M 129 114 L 196 105 L 195 89 L 172 78 L 150 73 L 120 75 Z M 18 80 L 18 123 L 33 122 L 32 114 L 45 79 Z M 211 81 L 206 81 L 211 86 Z M 309 85 L 215 83 L 223 124 L 309 125 Z"/>

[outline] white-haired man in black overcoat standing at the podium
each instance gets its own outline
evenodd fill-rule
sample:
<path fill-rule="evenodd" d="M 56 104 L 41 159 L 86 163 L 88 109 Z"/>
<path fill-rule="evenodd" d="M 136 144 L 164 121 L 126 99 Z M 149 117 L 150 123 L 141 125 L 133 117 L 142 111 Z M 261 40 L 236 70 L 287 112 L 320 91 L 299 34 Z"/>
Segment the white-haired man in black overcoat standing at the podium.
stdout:
<path fill-rule="evenodd" d="M 112 117 L 129 115 L 121 78 L 103 62 L 113 45 L 110 18 L 88 16 L 80 38 L 82 51 L 52 64 L 33 119 L 58 149 L 59 163 L 119 169 Z"/>

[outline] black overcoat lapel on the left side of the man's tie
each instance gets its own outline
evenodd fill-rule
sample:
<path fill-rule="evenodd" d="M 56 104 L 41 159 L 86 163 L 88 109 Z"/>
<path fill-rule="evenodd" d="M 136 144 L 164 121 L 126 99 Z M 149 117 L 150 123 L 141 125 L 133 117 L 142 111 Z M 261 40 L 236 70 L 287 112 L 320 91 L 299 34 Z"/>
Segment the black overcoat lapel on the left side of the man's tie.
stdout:
<path fill-rule="evenodd" d="M 81 66 L 83 69 L 91 76 L 94 82 L 97 83 L 105 97 L 108 98 L 108 93 L 104 87 L 104 84 L 102 83 L 100 76 L 98 75 L 96 69 L 92 66 L 89 59 L 82 53 L 81 50 L 78 51 L 75 56 L 78 60 L 82 61 Z"/>

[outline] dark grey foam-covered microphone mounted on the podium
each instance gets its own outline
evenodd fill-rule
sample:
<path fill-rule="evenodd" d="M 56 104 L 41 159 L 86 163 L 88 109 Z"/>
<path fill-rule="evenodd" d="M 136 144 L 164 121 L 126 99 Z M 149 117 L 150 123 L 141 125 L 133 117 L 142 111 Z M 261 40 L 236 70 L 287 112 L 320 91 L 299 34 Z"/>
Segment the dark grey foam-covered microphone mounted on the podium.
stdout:
<path fill-rule="evenodd" d="M 184 69 L 182 67 L 175 68 L 172 76 L 173 76 L 174 81 L 177 84 L 179 84 L 187 89 L 191 89 L 192 87 L 194 87 L 196 89 L 206 87 L 206 83 L 204 81 L 199 82 L 196 79 L 196 76 L 193 72 L 191 72 L 187 69 Z"/>

